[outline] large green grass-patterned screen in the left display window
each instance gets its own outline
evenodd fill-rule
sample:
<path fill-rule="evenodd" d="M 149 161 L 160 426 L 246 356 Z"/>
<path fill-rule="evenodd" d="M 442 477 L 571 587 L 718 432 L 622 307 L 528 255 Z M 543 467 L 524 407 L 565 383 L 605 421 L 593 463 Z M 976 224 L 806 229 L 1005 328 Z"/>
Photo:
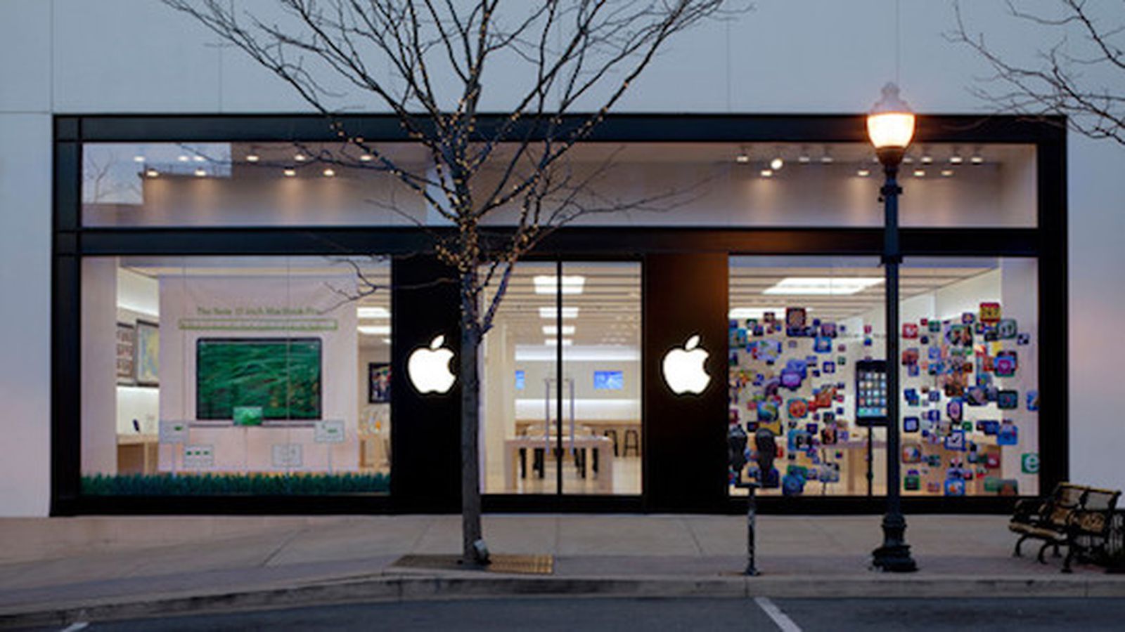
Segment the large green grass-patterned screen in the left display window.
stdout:
<path fill-rule="evenodd" d="M 261 407 L 264 419 L 321 417 L 321 338 L 199 338 L 196 418 L 234 419 Z"/>

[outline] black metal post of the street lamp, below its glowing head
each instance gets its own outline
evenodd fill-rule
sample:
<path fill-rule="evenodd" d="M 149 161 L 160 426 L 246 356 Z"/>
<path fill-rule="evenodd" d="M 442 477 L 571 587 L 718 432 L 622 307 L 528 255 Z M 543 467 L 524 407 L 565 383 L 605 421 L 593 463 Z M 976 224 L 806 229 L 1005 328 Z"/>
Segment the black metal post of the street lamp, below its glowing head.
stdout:
<path fill-rule="evenodd" d="M 899 161 L 883 159 L 886 180 L 883 183 L 883 269 L 886 309 L 886 515 L 883 516 L 883 545 L 875 549 L 873 565 L 884 571 L 910 572 L 918 567 L 906 543 L 907 521 L 902 515 L 901 482 L 899 480 Z M 868 428 L 870 432 L 874 427 Z"/>

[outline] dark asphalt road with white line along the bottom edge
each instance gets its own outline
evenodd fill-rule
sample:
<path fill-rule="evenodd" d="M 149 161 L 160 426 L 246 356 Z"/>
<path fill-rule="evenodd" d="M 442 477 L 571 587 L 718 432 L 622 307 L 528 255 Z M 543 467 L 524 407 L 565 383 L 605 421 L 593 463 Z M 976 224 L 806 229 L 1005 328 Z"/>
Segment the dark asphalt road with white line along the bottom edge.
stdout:
<path fill-rule="evenodd" d="M 381 603 L 82 623 L 69 632 L 285 630 L 1122 630 L 1125 599 L 616 599 Z M 60 630 L 60 629 L 54 629 Z"/>

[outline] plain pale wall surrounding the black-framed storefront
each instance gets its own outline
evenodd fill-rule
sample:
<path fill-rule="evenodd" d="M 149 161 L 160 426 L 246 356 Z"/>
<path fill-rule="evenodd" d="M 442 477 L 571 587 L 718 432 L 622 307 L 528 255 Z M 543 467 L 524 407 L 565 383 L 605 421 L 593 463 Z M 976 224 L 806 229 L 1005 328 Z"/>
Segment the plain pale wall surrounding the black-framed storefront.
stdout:
<path fill-rule="evenodd" d="M 1000 2 L 972 2 L 968 10 L 991 44 L 1016 57 L 1029 57 L 1043 40 L 1014 28 Z M 988 69 L 943 38 L 952 26 L 948 2 L 901 0 L 901 84 L 922 114 L 982 109 L 966 89 Z M 893 78 L 893 34 L 894 0 L 759 0 L 736 22 L 673 42 L 616 110 L 862 111 Z M 0 40 L 19 53 L 0 55 L 0 515 L 43 515 L 50 488 L 51 116 L 305 108 L 266 71 L 155 0 L 3 0 Z M 493 83 L 486 103 L 501 107 L 502 88 Z M 1114 334 L 1125 318 L 1117 281 L 1125 272 L 1118 243 L 1125 235 L 1125 148 L 1072 136 L 1068 160 L 1071 477 L 1122 488 L 1125 472 L 1115 463 L 1125 450 L 1125 426 L 1113 392 L 1117 359 L 1125 356 L 1125 337 Z"/>

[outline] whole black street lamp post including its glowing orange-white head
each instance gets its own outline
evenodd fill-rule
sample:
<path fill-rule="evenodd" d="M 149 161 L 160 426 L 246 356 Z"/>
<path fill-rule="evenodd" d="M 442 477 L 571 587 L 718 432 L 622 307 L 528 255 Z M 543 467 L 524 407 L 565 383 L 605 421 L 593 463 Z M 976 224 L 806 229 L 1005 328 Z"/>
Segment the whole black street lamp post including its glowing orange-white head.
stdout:
<path fill-rule="evenodd" d="M 888 83 L 883 97 L 867 114 L 867 136 L 883 164 L 885 180 L 880 189 L 883 201 L 883 271 L 886 309 L 886 515 L 883 516 L 883 545 L 872 552 L 872 563 L 880 570 L 917 570 L 906 543 L 907 521 L 902 515 L 899 472 L 899 164 L 914 137 L 915 115 L 899 98 L 899 87 Z M 873 432 L 870 428 L 868 432 Z"/>

